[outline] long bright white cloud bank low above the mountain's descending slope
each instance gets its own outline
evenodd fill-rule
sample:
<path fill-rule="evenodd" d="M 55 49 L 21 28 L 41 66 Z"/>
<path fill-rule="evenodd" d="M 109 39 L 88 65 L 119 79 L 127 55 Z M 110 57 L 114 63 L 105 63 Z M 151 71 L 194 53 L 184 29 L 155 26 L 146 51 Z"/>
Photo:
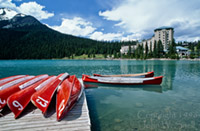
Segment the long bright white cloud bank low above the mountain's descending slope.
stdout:
<path fill-rule="evenodd" d="M 47 25 L 49 26 L 49 25 Z M 131 34 L 123 36 L 124 33 L 103 33 L 104 29 L 97 31 L 93 24 L 80 17 L 74 17 L 72 19 L 62 19 L 62 23 L 59 26 L 49 26 L 50 28 L 57 30 L 64 34 L 71 34 L 75 36 L 88 37 L 94 40 L 112 41 L 112 40 L 136 40 L 140 38 L 140 34 Z"/>

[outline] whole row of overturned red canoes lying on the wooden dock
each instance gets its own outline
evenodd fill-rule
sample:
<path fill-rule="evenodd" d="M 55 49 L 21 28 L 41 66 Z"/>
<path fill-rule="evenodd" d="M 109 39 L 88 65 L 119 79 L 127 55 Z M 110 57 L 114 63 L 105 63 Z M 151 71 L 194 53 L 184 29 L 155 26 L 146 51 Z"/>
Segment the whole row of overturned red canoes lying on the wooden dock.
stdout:
<path fill-rule="evenodd" d="M 18 118 L 32 102 L 43 114 L 56 94 L 57 120 L 61 120 L 81 97 L 83 87 L 75 75 L 17 75 L 0 79 L 0 111 L 8 105 Z"/>

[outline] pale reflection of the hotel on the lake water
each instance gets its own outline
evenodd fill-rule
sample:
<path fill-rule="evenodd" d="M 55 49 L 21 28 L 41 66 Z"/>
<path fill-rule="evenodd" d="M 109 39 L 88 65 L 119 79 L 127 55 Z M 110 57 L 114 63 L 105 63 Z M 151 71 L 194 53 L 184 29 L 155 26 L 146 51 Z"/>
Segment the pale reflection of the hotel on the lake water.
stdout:
<path fill-rule="evenodd" d="M 164 76 L 162 87 L 163 90 L 172 90 L 172 83 L 176 74 L 177 61 L 130 61 L 121 60 L 121 74 L 142 73 L 154 71 L 155 76 Z"/>

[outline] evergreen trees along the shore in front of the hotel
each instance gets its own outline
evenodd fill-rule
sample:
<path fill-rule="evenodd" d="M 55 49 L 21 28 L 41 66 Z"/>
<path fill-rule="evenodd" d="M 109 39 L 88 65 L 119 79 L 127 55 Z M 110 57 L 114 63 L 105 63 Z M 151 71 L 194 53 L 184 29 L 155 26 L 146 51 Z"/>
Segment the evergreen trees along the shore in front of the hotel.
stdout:
<path fill-rule="evenodd" d="M 190 55 L 185 56 L 185 58 L 199 58 L 200 57 L 200 41 L 198 42 L 188 42 L 188 43 L 175 43 L 175 40 L 173 40 L 170 45 L 167 52 L 164 52 L 163 50 L 163 44 L 159 40 L 158 42 L 154 41 L 154 47 L 150 45 L 150 47 L 147 46 L 147 43 L 145 46 L 138 44 L 137 48 L 135 50 L 131 49 L 131 45 L 129 45 L 129 51 L 127 54 L 123 54 L 121 58 L 134 58 L 134 59 L 150 59 L 150 58 L 170 58 L 170 59 L 179 59 L 179 55 L 176 51 L 176 46 L 184 46 L 190 50 Z M 187 44 L 187 45 L 186 45 Z"/>

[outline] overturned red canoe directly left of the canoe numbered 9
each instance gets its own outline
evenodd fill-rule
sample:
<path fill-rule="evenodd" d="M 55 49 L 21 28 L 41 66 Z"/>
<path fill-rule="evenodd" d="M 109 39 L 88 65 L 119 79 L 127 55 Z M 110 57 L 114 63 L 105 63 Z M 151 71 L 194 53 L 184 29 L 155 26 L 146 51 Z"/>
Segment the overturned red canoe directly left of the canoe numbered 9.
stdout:
<path fill-rule="evenodd" d="M 23 90 L 29 86 L 31 86 L 32 84 L 44 79 L 44 78 L 47 78 L 48 75 L 39 75 L 39 76 L 35 76 L 31 79 L 28 79 L 28 80 L 25 80 L 21 83 L 18 83 L 16 85 L 13 85 L 9 88 L 6 88 L 6 89 L 3 89 L 3 90 L 0 90 L 0 109 L 2 109 L 6 103 L 7 103 L 7 99 L 10 95 L 14 94 L 15 92 L 18 92 L 20 90 Z"/>

